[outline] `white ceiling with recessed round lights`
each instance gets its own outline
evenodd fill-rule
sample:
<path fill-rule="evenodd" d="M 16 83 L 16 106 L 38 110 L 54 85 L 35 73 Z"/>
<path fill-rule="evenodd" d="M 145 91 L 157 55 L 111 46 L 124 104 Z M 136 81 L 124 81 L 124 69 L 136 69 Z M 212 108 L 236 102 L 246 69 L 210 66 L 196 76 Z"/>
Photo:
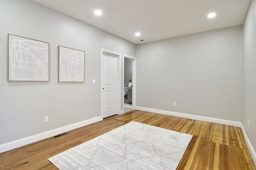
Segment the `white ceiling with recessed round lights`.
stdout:
<path fill-rule="evenodd" d="M 243 24 L 251 0 L 33 0 L 134 44 Z M 94 10 L 102 10 L 95 16 Z M 209 19 L 207 14 L 216 12 Z M 141 33 L 136 37 L 135 32 Z"/>

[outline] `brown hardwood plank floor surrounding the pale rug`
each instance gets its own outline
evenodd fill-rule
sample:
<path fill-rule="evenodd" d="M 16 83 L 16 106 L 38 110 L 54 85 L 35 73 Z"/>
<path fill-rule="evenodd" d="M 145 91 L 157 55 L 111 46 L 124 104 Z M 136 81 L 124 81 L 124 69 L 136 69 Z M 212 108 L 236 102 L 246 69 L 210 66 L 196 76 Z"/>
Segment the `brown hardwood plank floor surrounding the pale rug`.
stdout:
<path fill-rule="evenodd" d="M 130 121 L 194 135 L 178 170 L 256 170 L 238 127 L 196 121 L 146 111 L 130 111 L 0 154 L 0 170 L 58 170 L 47 158 L 120 127 Z"/>

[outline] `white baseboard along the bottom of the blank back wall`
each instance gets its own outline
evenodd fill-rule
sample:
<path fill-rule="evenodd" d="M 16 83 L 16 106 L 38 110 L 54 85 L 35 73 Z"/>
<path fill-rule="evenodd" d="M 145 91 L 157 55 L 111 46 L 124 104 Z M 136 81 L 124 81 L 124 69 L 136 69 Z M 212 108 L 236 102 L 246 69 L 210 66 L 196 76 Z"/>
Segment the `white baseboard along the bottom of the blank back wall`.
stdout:
<path fill-rule="evenodd" d="M 240 122 L 238 121 L 230 121 L 230 120 L 225 120 L 225 119 L 217 119 L 213 117 L 205 117 L 205 116 L 198 116 L 198 115 L 190 115 L 186 113 L 179 113 L 179 112 L 174 112 L 174 111 L 166 111 L 166 110 L 159 110 L 159 109 L 151 109 L 147 107 L 136 107 L 137 110 L 142 110 L 142 111 L 149 111 L 153 113 L 160 113 L 164 115 L 171 115 L 171 116 L 177 116 L 177 117 L 184 117 L 187 119 L 194 119 L 194 120 L 200 120 L 200 121 L 208 121 L 211 123 L 219 123 L 222 125 L 230 125 L 230 126 L 235 126 L 235 127 L 240 127 Z"/>

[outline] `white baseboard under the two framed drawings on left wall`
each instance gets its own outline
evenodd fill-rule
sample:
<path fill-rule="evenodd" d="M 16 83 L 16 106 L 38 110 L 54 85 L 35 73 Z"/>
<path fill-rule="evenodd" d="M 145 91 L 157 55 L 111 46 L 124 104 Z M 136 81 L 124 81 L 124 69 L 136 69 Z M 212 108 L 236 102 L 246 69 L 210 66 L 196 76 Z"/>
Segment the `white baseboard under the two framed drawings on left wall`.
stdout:
<path fill-rule="evenodd" d="M 60 127 L 60 128 L 57 128 L 57 129 L 53 129 L 53 130 L 50 130 L 50 131 L 39 133 L 39 134 L 36 134 L 36 135 L 32 135 L 30 137 L 25 137 L 25 138 L 22 138 L 22 139 L 18 139 L 16 141 L 4 143 L 4 144 L 0 145 L 0 153 L 6 152 L 8 150 L 12 150 L 12 149 L 15 149 L 15 148 L 18 148 L 18 147 L 22 147 L 24 145 L 28 145 L 30 143 L 34 143 L 34 142 L 40 141 L 42 139 L 46 139 L 46 138 L 52 137 L 54 135 L 64 133 L 66 131 L 71 131 L 73 129 L 83 127 L 83 126 L 86 126 L 86 125 L 89 125 L 89 124 L 92 124 L 92 123 L 95 123 L 95 122 L 98 122 L 98 121 L 102 121 L 101 116 L 94 117 L 92 119 L 88 119 L 88 120 L 85 120 L 85 121 L 80 121 L 78 123 L 74 123 L 74 124 L 71 124 L 71 125 L 67 125 L 67 126 L 64 126 L 64 127 Z"/>

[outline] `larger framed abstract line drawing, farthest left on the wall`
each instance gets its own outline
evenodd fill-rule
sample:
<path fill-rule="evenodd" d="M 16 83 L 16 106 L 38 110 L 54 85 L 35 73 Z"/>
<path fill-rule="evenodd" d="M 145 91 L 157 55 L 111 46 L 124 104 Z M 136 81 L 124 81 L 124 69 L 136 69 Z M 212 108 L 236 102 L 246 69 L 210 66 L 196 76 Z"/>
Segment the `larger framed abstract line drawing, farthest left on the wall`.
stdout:
<path fill-rule="evenodd" d="M 49 81 L 49 43 L 8 34 L 8 81 Z"/>

